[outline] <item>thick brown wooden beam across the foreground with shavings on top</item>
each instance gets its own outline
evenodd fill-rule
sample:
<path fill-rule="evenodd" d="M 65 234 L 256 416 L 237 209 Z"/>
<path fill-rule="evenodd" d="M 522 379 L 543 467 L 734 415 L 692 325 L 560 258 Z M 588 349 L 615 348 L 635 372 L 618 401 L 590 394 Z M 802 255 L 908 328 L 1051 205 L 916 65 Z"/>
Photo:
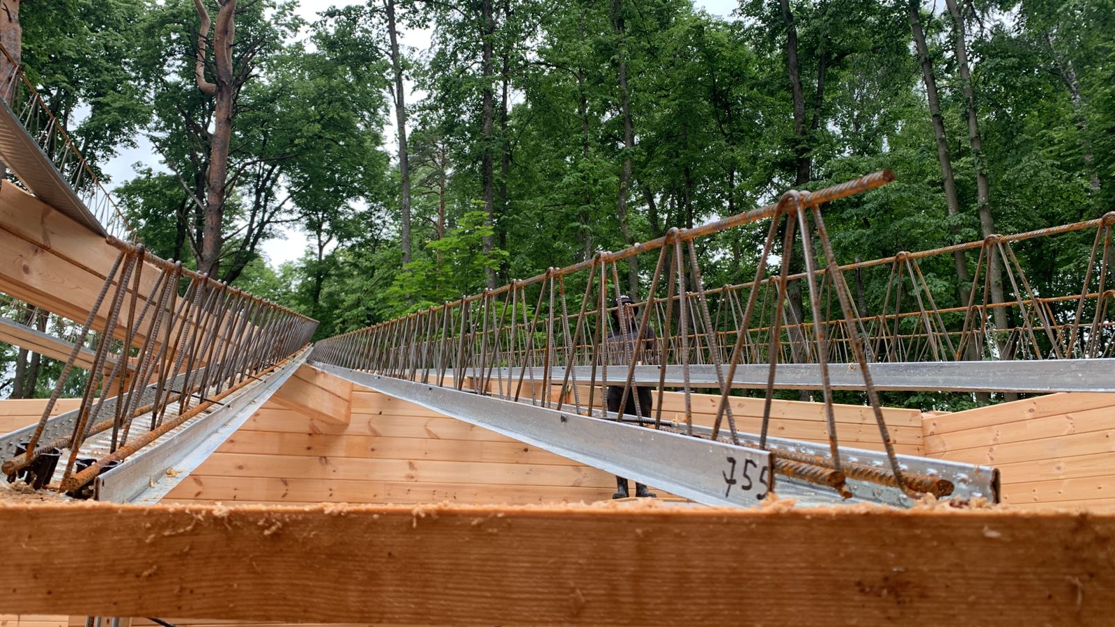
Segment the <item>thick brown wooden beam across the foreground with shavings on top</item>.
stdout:
<path fill-rule="evenodd" d="M 18 614 L 1016 627 L 1115 607 L 1111 514 L 21 503 L 0 529 Z"/>

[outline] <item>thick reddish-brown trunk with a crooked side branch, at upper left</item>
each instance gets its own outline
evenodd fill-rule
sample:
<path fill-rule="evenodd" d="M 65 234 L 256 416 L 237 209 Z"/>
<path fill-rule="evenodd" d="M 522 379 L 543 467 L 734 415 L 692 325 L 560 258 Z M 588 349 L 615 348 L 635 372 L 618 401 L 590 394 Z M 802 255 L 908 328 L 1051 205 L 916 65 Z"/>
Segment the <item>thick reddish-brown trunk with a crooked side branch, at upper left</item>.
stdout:
<path fill-rule="evenodd" d="M 220 9 L 213 28 L 213 83 L 205 79 L 205 50 L 209 44 L 210 17 L 202 0 L 194 0 L 201 17 L 197 37 L 197 64 L 194 68 L 197 87 L 214 96 L 213 134 L 210 143 L 209 173 L 205 182 L 205 220 L 202 228 L 202 258 L 197 270 L 216 277 L 221 269 L 224 244 L 225 183 L 229 175 L 229 149 L 232 141 L 232 118 L 235 100 L 235 74 L 232 67 L 232 44 L 235 40 L 236 0 L 219 0 Z"/>

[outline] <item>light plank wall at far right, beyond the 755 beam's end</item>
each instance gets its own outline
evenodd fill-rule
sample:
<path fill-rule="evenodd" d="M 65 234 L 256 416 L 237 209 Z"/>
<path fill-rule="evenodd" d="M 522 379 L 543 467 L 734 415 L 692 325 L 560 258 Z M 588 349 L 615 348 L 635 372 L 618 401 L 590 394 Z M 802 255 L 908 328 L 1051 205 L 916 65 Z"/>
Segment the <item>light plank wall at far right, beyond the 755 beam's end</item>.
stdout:
<path fill-rule="evenodd" d="M 1115 394 L 1050 394 L 923 426 L 927 456 L 998 467 L 1006 503 L 1115 511 Z"/>

